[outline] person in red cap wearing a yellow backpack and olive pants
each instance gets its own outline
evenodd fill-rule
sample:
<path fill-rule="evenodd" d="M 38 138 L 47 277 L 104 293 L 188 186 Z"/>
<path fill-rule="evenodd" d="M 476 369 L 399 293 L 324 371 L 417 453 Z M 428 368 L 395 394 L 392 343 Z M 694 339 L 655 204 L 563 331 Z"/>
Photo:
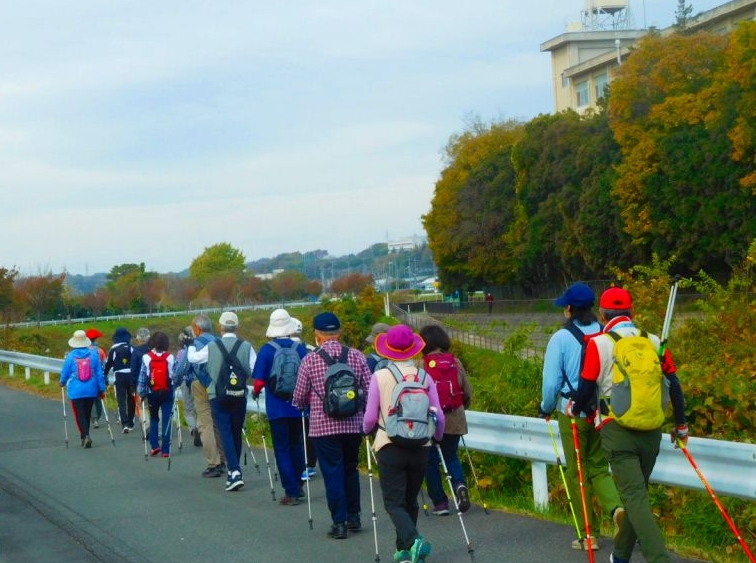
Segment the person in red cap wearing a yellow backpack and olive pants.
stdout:
<path fill-rule="evenodd" d="M 652 409 L 654 416 L 646 412 L 642 417 L 630 418 L 637 412 L 633 407 L 634 402 L 648 397 L 644 393 L 636 392 L 631 394 L 627 411 L 620 411 L 618 414 L 613 410 L 613 407 L 616 407 L 619 411 L 618 403 L 621 404 L 613 397 L 612 377 L 615 369 L 614 358 L 619 353 L 618 348 L 622 346 L 622 340 L 639 336 L 643 342 L 650 341 L 652 345 L 654 353 L 651 356 L 657 360 L 655 369 L 661 371 L 669 384 L 669 399 L 672 402 L 675 419 L 675 427 L 670 434 L 675 447 L 678 446 L 678 439 L 683 444 L 686 444 L 688 440 L 682 388 L 669 350 L 661 348 L 658 336 L 639 330 L 633 323 L 633 301 L 627 290 L 612 287 L 601 294 L 599 320 L 604 324 L 603 333 L 588 342 L 577 396 L 574 402 L 568 402 L 566 414 L 568 416 L 576 416 L 581 412 L 588 415 L 595 414 L 596 428 L 601 432 L 601 446 L 606 453 L 617 482 L 620 498 L 624 503 L 627 517 L 621 523 L 619 533 L 615 538 L 612 561 L 628 563 L 637 542 L 640 544 L 646 561 L 668 563 L 669 553 L 656 523 L 656 517 L 651 511 L 647 490 L 648 480 L 654 469 L 656 457 L 659 455 L 661 426 L 665 418 L 664 408 L 662 404 L 644 404 L 643 406 Z M 639 357 L 640 352 L 635 352 L 634 356 Z M 626 364 L 623 369 L 627 371 L 632 367 Z M 632 382 L 632 379 L 630 381 Z M 632 387 L 632 383 L 629 386 Z M 657 387 L 663 389 L 664 385 L 659 382 Z M 591 403 L 592 397 L 595 397 L 597 392 L 599 407 L 594 412 Z M 661 390 L 658 394 L 663 396 Z M 645 428 L 636 429 L 640 426 Z"/>

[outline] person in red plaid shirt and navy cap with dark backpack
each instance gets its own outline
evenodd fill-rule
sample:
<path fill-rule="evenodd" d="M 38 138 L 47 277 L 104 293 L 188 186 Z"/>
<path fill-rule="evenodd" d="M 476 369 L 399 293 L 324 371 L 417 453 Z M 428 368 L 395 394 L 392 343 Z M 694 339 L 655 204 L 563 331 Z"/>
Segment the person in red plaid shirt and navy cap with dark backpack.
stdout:
<path fill-rule="evenodd" d="M 328 535 L 345 539 L 348 530 L 362 528 L 360 520 L 360 474 L 357 469 L 362 438 L 362 400 L 367 394 L 370 369 L 359 350 L 343 346 L 339 341 L 341 322 L 331 312 L 320 313 L 312 320 L 315 343 L 318 349 L 307 354 L 299 366 L 297 385 L 292 404 L 299 409 L 310 409 L 309 435 L 315 444 L 320 472 L 328 499 L 332 525 Z M 343 358 L 351 374 L 334 375 L 332 379 L 346 379 L 351 375 L 353 386 L 348 393 L 352 401 L 344 405 L 342 414 L 329 408 L 326 412 L 326 373 L 330 362 Z M 353 414 L 347 415 L 347 412 Z M 330 414 L 329 414 L 330 413 Z"/>

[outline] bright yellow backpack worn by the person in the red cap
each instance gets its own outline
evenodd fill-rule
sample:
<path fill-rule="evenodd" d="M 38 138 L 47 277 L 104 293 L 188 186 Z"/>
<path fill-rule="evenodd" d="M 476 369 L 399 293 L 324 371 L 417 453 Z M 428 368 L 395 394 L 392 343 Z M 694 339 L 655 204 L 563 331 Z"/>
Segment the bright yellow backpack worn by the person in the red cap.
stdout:
<path fill-rule="evenodd" d="M 614 339 L 609 416 L 633 430 L 660 428 L 669 389 L 653 342 L 645 331 L 636 336 L 608 334 Z"/>

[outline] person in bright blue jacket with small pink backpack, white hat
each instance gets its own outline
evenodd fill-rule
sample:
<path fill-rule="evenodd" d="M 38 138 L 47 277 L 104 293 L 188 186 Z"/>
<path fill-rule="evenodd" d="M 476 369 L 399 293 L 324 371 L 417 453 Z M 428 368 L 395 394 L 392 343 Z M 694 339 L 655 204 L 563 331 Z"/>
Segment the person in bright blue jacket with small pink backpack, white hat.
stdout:
<path fill-rule="evenodd" d="M 92 405 L 104 397 L 106 389 L 100 356 L 90 350 L 91 343 L 83 330 L 75 331 L 68 339 L 72 350 L 66 354 L 60 371 L 60 386 L 68 392 L 81 445 L 85 448 L 92 447 L 89 437 Z"/>

